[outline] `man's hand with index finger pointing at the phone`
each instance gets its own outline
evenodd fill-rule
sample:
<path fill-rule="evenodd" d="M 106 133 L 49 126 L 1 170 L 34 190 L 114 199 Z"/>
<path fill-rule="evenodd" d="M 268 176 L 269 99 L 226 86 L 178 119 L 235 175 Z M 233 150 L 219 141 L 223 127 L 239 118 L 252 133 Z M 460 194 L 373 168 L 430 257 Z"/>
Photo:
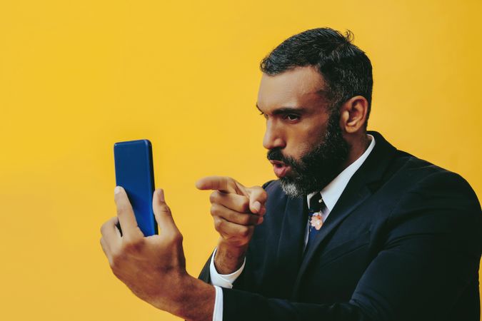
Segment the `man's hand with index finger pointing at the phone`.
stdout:
<path fill-rule="evenodd" d="M 214 265 L 221 274 L 230 274 L 243 264 L 254 227 L 263 223 L 267 193 L 261 186 L 246 188 L 233 178 L 209 176 L 196 182 L 200 190 L 214 190 L 211 215 L 219 232 Z"/>

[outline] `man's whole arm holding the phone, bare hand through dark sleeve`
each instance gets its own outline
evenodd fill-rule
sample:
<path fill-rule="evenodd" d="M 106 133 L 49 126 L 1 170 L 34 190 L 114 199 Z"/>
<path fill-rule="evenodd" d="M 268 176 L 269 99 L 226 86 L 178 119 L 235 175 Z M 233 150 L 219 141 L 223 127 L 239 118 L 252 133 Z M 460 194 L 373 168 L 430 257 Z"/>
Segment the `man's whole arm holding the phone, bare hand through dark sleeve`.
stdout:
<path fill-rule="evenodd" d="M 434 176 L 418 183 L 393 209 L 385 246 L 363 273 L 351 300 L 316 305 L 224 289 L 224 320 L 446 318 L 461 293 L 478 284 L 482 215 L 468 185 Z M 153 198 L 161 235 L 144 238 L 123 190 L 116 193 L 116 204 L 124 235 L 116 230 L 116 218 L 101 229 L 101 245 L 114 274 L 161 310 L 186 320 L 211 321 L 214 287 L 187 274 L 182 235 L 162 190 Z"/>

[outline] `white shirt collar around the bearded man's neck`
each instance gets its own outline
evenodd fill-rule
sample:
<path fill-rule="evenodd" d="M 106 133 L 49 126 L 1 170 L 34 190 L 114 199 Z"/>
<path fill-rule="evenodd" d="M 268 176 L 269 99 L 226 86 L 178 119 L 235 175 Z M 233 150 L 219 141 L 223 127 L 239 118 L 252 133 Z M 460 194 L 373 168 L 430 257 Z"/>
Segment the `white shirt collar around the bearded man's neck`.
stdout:
<path fill-rule="evenodd" d="M 308 194 L 308 204 L 310 203 L 310 199 L 313 197 L 313 195 L 315 195 L 316 193 L 321 193 L 321 197 L 323 198 L 323 203 L 325 203 L 326 208 L 328 208 L 330 212 L 331 210 L 333 210 L 336 202 L 338 201 L 338 198 L 340 198 L 341 193 L 343 193 L 346 185 L 348 185 L 351 176 L 356 173 L 356 170 L 360 168 L 361 164 L 363 164 L 368 155 L 370 155 L 373 147 L 375 147 L 375 138 L 370 134 L 367 134 L 367 136 L 371 138 L 371 142 L 370 145 L 368 145 L 368 148 L 366 148 L 366 151 L 360 157 L 358 157 L 356 161 L 351 163 L 347 168 L 345 168 L 341 173 L 339 173 L 336 178 L 331 180 L 331 182 L 328 183 L 328 185 L 326 185 L 326 187 L 323 188 L 321 192 L 314 192 Z"/>

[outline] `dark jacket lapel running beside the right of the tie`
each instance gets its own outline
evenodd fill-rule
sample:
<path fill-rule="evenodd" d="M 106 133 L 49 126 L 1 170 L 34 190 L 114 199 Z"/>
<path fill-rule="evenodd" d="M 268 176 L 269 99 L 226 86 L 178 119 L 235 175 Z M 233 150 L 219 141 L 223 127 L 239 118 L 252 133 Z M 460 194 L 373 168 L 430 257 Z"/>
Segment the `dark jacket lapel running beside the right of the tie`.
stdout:
<path fill-rule="evenodd" d="M 372 194 L 369 186 L 381 180 L 386 167 L 394 155 L 396 148 L 390 145 L 383 136 L 376 132 L 368 132 L 375 137 L 375 147 L 371 151 L 366 161 L 361 165 L 351 180 L 346 185 L 345 190 L 336 202 L 335 207 L 331 210 L 328 218 L 323 223 L 323 226 L 316 235 L 316 240 L 311 248 L 303 256 L 301 267 L 298 270 L 298 275 L 294 284 L 293 296 L 296 297 L 298 287 L 300 285 L 303 274 L 306 272 L 308 265 L 313 259 L 318 248 L 323 246 L 325 241 L 331 233 L 336 230 L 336 227 L 343 222 L 343 220 L 356 210 L 367 198 Z"/>

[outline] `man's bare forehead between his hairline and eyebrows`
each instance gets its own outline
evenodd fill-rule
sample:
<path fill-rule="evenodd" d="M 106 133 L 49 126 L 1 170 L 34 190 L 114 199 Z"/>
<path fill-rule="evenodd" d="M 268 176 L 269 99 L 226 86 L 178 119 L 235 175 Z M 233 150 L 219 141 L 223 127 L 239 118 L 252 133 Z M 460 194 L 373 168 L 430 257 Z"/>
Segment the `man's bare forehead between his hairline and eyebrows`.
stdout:
<path fill-rule="evenodd" d="M 258 91 L 258 108 L 303 106 L 320 101 L 324 95 L 323 77 L 313 66 L 292 68 L 269 76 L 263 73 Z"/>

